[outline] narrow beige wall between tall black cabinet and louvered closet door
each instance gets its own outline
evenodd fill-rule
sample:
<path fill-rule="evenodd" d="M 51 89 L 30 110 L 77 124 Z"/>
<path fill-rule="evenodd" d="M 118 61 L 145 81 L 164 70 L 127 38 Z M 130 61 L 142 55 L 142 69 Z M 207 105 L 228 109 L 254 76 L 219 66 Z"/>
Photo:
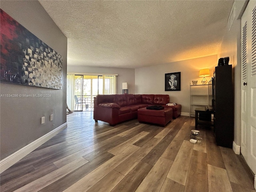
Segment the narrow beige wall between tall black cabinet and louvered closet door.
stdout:
<path fill-rule="evenodd" d="M 234 142 L 240 146 L 241 137 L 241 16 L 244 12 L 248 1 L 235 1 L 236 17 L 229 29 L 226 26 L 226 33 L 222 39 L 222 44 L 218 53 L 218 58 L 230 57 L 232 64 L 233 82 L 234 82 Z"/>

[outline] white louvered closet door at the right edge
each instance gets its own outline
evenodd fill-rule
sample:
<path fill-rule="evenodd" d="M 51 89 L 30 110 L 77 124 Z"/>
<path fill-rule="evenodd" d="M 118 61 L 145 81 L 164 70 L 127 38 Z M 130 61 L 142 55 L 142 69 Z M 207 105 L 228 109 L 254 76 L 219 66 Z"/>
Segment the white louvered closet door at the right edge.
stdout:
<path fill-rule="evenodd" d="M 241 24 L 241 153 L 256 174 L 256 1 L 249 1 Z"/>

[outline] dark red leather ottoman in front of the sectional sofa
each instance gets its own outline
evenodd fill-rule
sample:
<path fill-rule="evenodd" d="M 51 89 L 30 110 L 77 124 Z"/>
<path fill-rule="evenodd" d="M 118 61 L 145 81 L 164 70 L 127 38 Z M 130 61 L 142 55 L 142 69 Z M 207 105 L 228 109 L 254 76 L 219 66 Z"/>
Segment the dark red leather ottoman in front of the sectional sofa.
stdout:
<path fill-rule="evenodd" d="M 163 110 L 150 110 L 144 108 L 138 109 L 138 121 L 155 123 L 166 126 L 172 120 L 172 108 L 164 108 Z"/>

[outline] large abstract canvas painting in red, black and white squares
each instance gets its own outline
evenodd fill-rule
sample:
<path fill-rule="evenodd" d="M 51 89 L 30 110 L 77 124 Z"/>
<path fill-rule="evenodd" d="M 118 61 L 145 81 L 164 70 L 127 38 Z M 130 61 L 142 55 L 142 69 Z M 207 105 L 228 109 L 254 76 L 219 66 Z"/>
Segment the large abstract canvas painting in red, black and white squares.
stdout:
<path fill-rule="evenodd" d="M 61 89 L 62 56 L 0 11 L 0 81 Z"/>

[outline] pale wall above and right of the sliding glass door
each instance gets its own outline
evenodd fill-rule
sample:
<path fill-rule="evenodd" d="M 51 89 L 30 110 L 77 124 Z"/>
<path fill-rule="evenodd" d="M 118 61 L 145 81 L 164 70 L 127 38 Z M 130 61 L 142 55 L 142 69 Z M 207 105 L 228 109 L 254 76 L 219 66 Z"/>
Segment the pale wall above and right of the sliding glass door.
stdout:
<path fill-rule="evenodd" d="M 69 73 L 82 74 L 118 74 L 117 76 L 117 94 L 122 94 L 122 82 L 128 83 L 130 94 L 135 93 L 135 75 L 134 69 L 127 68 L 107 68 L 107 67 L 85 67 L 85 66 L 68 66 Z"/>

